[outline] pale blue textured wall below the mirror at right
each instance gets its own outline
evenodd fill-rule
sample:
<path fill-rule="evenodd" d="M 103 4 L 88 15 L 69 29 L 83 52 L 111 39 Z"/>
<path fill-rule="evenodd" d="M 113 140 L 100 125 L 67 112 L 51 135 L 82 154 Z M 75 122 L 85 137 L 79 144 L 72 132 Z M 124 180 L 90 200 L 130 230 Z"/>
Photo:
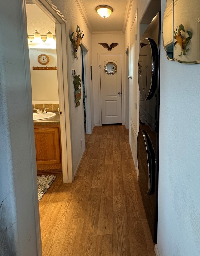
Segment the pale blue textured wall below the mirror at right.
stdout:
<path fill-rule="evenodd" d="M 162 1 L 162 15 L 166 1 Z M 162 26 L 161 26 L 162 27 Z M 200 64 L 166 58 L 161 45 L 158 250 L 200 255 Z"/>

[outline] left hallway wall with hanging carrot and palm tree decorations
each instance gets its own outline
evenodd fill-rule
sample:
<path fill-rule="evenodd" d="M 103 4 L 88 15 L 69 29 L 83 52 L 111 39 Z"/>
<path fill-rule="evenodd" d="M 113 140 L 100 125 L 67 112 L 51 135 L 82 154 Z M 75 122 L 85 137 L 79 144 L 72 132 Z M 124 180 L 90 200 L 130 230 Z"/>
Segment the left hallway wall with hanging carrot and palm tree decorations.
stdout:
<path fill-rule="evenodd" d="M 82 74 L 81 71 L 81 53 L 78 50 L 78 59 L 74 58 L 74 55 L 72 53 L 73 45 L 71 44 L 69 40 L 69 36 L 72 32 L 76 32 L 76 26 L 78 25 L 81 28 L 81 31 L 84 31 L 85 35 L 83 37 L 83 43 L 87 47 L 88 54 L 89 54 L 89 60 L 90 63 L 92 63 L 92 38 L 91 34 L 89 32 L 89 29 L 87 25 L 85 24 L 85 21 L 79 11 L 78 5 L 76 1 L 73 0 L 60 0 L 60 1 L 52 1 L 55 6 L 59 9 L 59 11 L 63 14 L 63 16 L 66 18 L 67 22 L 67 29 L 68 29 L 68 45 L 67 45 L 67 61 L 68 61 L 68 86 L 69 86 L 69 99 L 70 99 L 70 115 L 71 115 L 71 140 L 72 140 L 72 157 L 73 157 L 73 174 L 76 174 L 76 171 L 78 169 L 80 160 L 83 156 L 85 147 L 84 143 L 83 146 L 81 146 L 81 139 L 83 142 L 85 141 L 85 133 L 84 133 L 84 116 L 83 116 L 83 95 L 82 99 L 80 101 L 80 106 L 75 107 L 75 98 L 74 98 L 74 85 L 73 85 L 73 77 L 71 76 L 71 68 L 76 70 L 76 75 Z M 75 36 L 74 36 L 75 39 Z M 90 72 L 89 70 L 86 72 Z M 82 76 L 82 75 L 81 75 Z M 82 81 L 81 81 L 82 83 Z M 93 80 L 89 81 L 89 86 L 91 88 L 91 92 L 93 93 Z M 81 87 L 81 90 L 83 92 L 83 87 Z M 91 93 L 91 95 L 92 95 Z M 93 104 L 93 101 L 91 101 Z M 93 110 L 93 105 L 91 105 L 91 110 Z M 93 113 L 92 113 L 93 115 Z M 93 121 L 93 118 L 92 118 Z M 93 127 L 94 124 L 92 124 Z"/>

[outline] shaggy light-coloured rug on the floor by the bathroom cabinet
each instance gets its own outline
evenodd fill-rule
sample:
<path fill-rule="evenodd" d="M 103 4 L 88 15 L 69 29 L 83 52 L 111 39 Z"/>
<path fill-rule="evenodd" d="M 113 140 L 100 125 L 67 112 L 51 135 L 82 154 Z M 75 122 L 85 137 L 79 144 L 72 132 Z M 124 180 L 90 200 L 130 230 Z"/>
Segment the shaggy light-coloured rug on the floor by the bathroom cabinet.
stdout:
<path fill-rule="evenodd" d="M 40 201 L 44 193 L 51 186 L 56 176 L 54 175 L 42 175 L 37 176 L 37 186 L 38 186 L 38 200 Z"/>

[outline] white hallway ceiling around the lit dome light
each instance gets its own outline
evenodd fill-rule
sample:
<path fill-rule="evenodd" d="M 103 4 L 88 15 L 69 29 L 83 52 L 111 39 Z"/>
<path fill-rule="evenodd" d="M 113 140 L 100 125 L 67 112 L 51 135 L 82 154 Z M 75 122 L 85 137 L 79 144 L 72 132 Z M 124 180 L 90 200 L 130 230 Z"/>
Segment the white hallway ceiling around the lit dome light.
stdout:
<path fill-rule="evenodd" d="M 82 15 L 88 24 L 90 32 L 94 31 L 121 31 L 126 24 L 126 12 L 129 8 L 130 0 L 82 0 L 76 1 Z M 95 8 L 98 5 L 108 5 L 113 8 L 110 17 L 102 18 Z"/>

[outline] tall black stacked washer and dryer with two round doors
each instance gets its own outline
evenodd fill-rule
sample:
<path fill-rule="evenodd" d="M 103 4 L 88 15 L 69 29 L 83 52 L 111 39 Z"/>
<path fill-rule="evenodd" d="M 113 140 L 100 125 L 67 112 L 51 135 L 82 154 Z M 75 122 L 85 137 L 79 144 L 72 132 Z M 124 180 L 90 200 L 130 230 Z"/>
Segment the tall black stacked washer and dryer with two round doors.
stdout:
<path fill-rule="evenodd" d="M 138 181 L 153 242 L 157 243 L 160 13 L 155 16 L 145 30 L 140 45 L 138 63 L 140 89 Z"/>

